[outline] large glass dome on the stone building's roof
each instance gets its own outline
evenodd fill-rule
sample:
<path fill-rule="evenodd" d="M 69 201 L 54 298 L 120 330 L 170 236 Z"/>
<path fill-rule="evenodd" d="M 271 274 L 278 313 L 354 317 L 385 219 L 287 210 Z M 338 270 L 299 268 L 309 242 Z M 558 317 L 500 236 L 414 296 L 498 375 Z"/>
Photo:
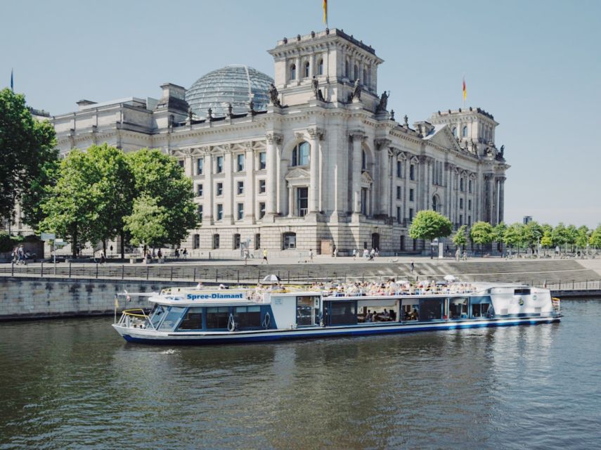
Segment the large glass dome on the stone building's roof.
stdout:
<path fill-rule="evenodd" d="M 255 110 L 265 110 L 269 104 L 269 84 L 273 79 L 247 65 L 226 65 L 197 79 L 186 91 L 186 101 L 198 117 L 223 117 L 231 103 L 234 114 L 248 111 L 252 100 Z"/>

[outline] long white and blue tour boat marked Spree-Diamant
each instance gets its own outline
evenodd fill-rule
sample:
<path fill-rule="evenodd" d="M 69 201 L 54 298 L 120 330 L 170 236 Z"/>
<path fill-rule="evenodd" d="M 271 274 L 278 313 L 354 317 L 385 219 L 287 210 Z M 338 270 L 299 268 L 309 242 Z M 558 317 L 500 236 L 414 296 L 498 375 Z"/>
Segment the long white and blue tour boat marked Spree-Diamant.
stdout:
<path fill-rule="evenodd" d="M 125 294 L 124 294 L 125 295 Z M 112 326 L 129 342 L 223 344 L 559 322 L 550 291 L 511 283 L 169 288 Z M 116 315 L 115 315 L 116 318 Z"/>

